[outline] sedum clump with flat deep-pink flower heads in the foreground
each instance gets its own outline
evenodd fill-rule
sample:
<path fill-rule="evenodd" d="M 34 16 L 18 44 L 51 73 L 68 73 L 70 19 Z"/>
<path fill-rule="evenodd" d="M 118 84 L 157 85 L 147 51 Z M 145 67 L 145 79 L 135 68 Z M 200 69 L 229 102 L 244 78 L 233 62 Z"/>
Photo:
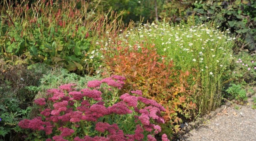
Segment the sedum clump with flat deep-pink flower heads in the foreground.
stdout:
<path fill-rule="evenodd" d="M 65 84 L 49 89 L 46 98 L 34 101 L 40 114 L 24 119 L 26 140 L 40 141 L 156 141 L 164 123 L 164 107 L 155 100 L 142 97 L 136 90 L 119 96 L 126 78 L 113 75 L 89 81 L 89 88 L 77 89 Z M 162 135 L 167 141 L 167 135 Z"/>

